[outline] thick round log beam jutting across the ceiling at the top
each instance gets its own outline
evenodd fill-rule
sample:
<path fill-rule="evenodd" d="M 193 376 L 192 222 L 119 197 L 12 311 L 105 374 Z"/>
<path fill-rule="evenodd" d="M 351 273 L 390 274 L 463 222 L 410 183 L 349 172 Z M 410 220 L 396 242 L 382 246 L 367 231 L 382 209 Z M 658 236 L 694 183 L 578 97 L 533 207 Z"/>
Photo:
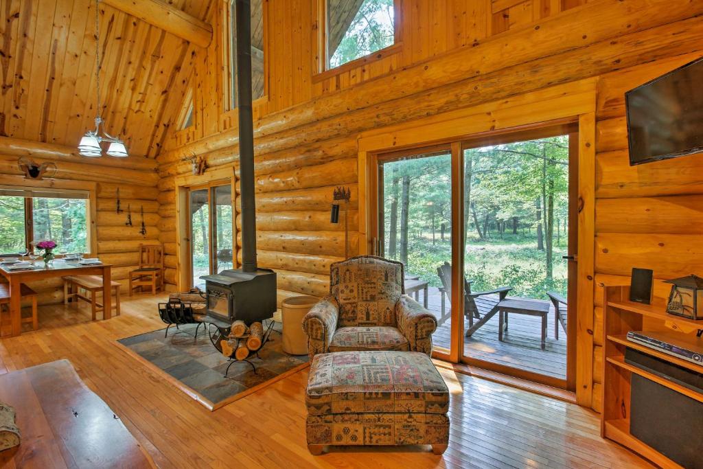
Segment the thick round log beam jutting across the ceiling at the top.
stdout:
<path fill-rule="evenodd" d="M 207 47 L 212 41 L 212 26 L 159 0 L 102 0 L 103 4 L 124 11 L 150 25 L 170 32 L 191 44 Z"/>

